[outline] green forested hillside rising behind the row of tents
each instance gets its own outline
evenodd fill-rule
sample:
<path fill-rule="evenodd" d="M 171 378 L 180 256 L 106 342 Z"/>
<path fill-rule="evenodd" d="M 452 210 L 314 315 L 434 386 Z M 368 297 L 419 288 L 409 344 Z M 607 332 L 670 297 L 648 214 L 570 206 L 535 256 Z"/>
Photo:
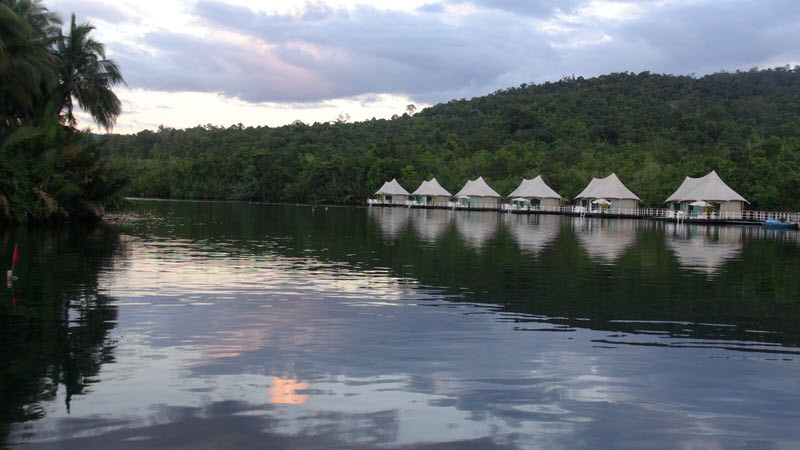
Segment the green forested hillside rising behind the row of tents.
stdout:
<path fill-rule="evenodd" d="M 134 196 L 361 203 L 395 177 L 456 192 L 482 175 L 507 195 L 541 174 L 571 199 L 616 172 L 660 206 L 714 169 L 752 209 L 800 210 L 800 68 L 566 78 L 392 120 L 160 128 L 116 136 L 109 157 Z"/>

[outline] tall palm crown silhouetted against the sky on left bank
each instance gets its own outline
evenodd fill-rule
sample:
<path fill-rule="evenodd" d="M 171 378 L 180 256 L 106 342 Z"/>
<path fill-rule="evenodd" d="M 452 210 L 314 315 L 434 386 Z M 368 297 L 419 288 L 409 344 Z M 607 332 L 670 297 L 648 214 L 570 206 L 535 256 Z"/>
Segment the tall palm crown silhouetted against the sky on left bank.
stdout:
<path fill-rule="evenodd" d="M 111 87 L 125 83 L 117 64 L 106 59 L 105 46 L 89 37 L 94 30 L 90 23 L 75 23 L 72 15 L 69 33 L 60 33 L 54 54 L 59 60 L 60 86 L 56 99 L 67 124 L 75 127 L 73 99 L 106 130 L 114 126 L 122 111 L 122 103 Z"/>

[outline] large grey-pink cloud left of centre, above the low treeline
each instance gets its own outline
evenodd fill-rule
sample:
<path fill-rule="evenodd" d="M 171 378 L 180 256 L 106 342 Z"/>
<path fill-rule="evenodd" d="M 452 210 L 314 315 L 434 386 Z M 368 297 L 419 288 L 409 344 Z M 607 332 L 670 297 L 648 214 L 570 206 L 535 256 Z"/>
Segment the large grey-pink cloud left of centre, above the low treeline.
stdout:
<path fill-rule="evenodd" d="M 151 33 L 145 43 L 157 54 L 117 50 L 129 84 L 221 92 L 247 101 L 428 96 L 454 87 L 480 90 L 498 72 L 513 69 L 520 52 L 550 52 L 540 38 L 530 37 L 529 26 L 504 24 L 492 14 L 452 24 L 373 8 L 315 7 L 293 17 L 200 3 L 197 13 L 216 29 L 249 35 L 252 42 Z M 508 31 L 517 38 L 509 42 Z"/>

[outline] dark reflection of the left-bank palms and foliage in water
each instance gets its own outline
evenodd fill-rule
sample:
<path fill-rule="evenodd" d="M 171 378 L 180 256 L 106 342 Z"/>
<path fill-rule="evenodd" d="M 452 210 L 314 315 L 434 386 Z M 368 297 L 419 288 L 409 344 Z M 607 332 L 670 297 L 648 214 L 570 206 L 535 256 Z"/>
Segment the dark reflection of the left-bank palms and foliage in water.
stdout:
<path fill-rule="evenodd" d="M 98 274 L 120 250 L 105 227 L 16 230 L 0 235 L 0 248 L 20 243 L 12 291 L 0 298 L 0 439 L 15 422 L 44 416 L 41 406 L 65 393 L 86 392 L 104 363 L 113 361 L 108 339 L 117 308 L 98 291 Z"/>

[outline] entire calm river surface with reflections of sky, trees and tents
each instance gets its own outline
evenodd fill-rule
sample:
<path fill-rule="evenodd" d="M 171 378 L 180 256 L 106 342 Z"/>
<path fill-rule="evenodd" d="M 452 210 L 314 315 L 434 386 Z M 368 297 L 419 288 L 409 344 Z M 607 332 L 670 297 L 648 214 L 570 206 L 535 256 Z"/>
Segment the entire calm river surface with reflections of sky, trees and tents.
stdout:
<path fill-rule="evenodd" d="M 797 448 L 799 241 L 155 201 L 0 234 L 0 443 Z"/>

